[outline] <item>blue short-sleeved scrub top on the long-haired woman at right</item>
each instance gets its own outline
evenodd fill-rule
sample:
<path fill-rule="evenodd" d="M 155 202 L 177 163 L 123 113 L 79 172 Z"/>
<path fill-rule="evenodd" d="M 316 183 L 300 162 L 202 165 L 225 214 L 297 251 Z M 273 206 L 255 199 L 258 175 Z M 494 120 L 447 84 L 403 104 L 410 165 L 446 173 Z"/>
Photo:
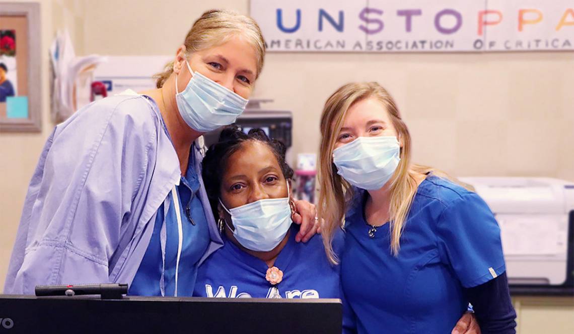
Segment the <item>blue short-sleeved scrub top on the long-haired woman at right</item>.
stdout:
<path fill-rule="evenodd" d="M 358 333 L 450 333 L 467 311 L 463 288 L 505 272 L 500 229 L 474 192 L 436 176 L 418 187 L 401 249 L 390 250 L 390 223 L 373 238 L 366 192 L 346 215 L 341 281 Z"/>

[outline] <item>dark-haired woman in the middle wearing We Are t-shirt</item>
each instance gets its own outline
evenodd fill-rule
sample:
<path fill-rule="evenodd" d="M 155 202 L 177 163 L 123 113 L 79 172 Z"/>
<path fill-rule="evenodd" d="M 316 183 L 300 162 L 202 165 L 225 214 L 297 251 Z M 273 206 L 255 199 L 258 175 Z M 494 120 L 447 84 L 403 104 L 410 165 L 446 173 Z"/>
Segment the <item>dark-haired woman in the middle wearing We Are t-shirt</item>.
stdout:
<path fill-rule="evenodd" d="M 329 263 L 323 240 L 315 235 L 297 243 L 297 214 L 291 203 L 293 170 L 285 162 L 285 146 L 261 129 L 249 134 L 224 128 L 219 142 L 203 159 L 203 180 L 224 246 L 197 271 L 194 296 L 232 298 L 341 298 L 343 328 L 354 332 L 340 288 L 339 266 Z M 340 229 L 333 248 L 343 246 Z M 478 334 L 472 317 L 458 326 Z"/>

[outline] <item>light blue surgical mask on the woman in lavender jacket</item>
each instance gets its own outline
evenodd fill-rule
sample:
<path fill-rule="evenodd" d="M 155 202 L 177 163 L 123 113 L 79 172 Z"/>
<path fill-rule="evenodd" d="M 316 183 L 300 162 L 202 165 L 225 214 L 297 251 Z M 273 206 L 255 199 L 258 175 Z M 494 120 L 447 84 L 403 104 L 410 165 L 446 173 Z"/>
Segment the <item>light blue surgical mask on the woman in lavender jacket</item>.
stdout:
<path fill-rule="evenodd" d="M 245 111 L 248 100 L 199 72 L 193 72 L 185 61 L 191 80 L 183 92 L 177 91 L 176 101 L 181 117 L 190 128 L 209 132 L 235 122 Z"/>

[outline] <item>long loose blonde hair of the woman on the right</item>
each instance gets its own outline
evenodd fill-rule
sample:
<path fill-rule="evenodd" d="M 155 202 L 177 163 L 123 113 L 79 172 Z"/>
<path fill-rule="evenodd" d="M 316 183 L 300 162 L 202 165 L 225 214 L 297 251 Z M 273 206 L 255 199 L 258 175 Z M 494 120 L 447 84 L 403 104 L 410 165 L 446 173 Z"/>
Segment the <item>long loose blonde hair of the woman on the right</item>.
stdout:
<path fill-rule="evenodd" d="M 333 164 L 333 150 L 339 131 L 347 110 L 358 101 L 377 99 L 389 112 L 394 128 L 398 132 L 402 143 L 400 158 L 397 169 L 390 180 L 390 209 L 389 221 L 391 224 L 391 252 L 397 256 L 400 249 L 400 238 L 404 229 L 406 218 L 409 215 L 410 206 L 417 192 L 416 176 L 433 172 L 435 175 L 448 177 L 441 171 L 430 167 L 412 164 L 410 162 L 411 139 L 409 129 L 401 118 L 397 104 L 385 88 L 377 82 L 351 83 L 337 89 L 325 103 L 321 115 L 321 144 L 319 156 L 319 206 L 317 207 L 320 219 L 324 225 L 323 242 L 325 252 L 329 260 L 336 264 L 338 257 L 333 252 L 333 234 L 339 227 L 344 225 L 344 215 L 348 203 L 353 197 L 351 184 L 337 174 L 337 167 Z"/>

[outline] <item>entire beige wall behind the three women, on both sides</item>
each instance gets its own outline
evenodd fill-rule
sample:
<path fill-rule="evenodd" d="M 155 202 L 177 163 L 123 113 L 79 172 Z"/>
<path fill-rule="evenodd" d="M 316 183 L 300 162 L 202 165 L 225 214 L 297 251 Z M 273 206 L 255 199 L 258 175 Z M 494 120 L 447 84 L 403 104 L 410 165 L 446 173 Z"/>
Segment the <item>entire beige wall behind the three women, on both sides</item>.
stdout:
<path fill-rule="evenodd" d="M 42 50 L 47 50 L 55 29 L 67 26 L 78 53 L 107 55 L 173 54 L 204 10 L 224 7 L 247 13 L 249 9 L 247 0 L 41 3 Z M 53 126 L 48 117 L 47 52 L 42 53 L 42 75 L 42 133 L 0 135 L 2 285 L 26 186 Z M 418 163 L 457 176 L 525 175 L 574 180 L 572 52 L 269 53 L 254 97 L 275 99 L 270 107 L 292 110 L 294 153 L 316 152 L 324 101 L 340 85 L 360 80 L 379 81 L 394 95 L 412 133 L 414 160 Z M 528 319 L 542 314 L 545 319 L 556 316 L 560 323 L 564 314 L 574 311 L 572 307 L 559 306 L 556 312 L 544 307 L 552 302 L 550 299 L 542 306 L 525 308 L 525 314 Z M 571 327 L 574 331 L 574 324 Z M 521 334 L 537 333 L 528 328 L 521 327 Z M 563 330 L 560 326 L 549 332 Z"/>

